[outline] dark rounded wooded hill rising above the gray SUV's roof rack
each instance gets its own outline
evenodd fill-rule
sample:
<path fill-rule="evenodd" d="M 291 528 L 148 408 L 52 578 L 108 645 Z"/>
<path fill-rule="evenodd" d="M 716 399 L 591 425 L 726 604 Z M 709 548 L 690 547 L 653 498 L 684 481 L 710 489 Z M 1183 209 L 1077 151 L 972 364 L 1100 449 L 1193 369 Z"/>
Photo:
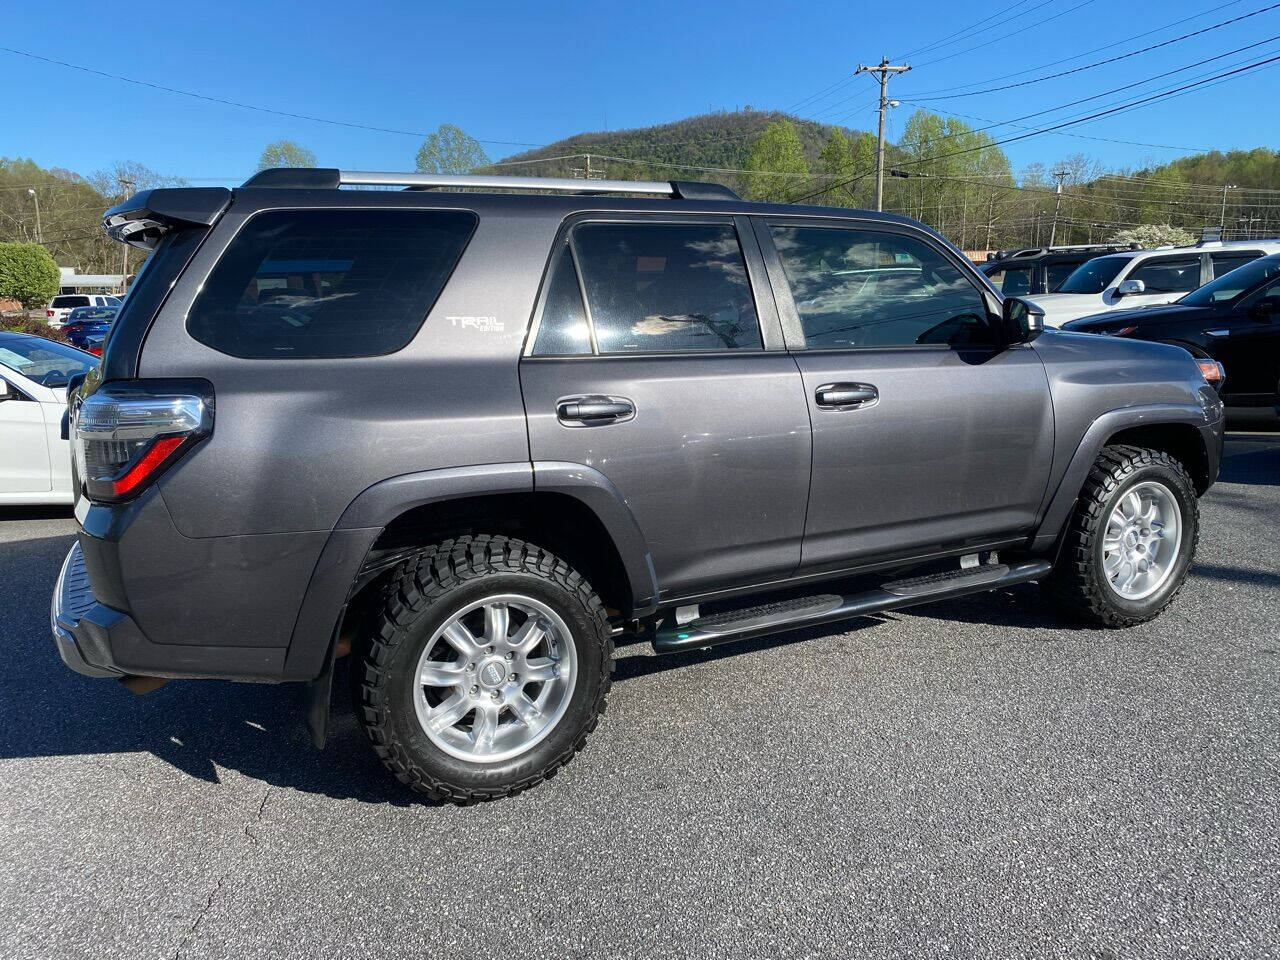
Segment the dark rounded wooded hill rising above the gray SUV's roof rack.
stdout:
<path fill-rule="evenodd" d="M 740 170 L 751 152 L 751 142 L 777 119 L 788 119 L 795 124 L 809 166 L 817 169 L 818 154 L 835 127 L 750 108 L 689 116 L 655 127 L 579 133 L 538 150 L 504 157 L 490 169 L 494 173 L 518 173 L 521 168 L 526 168 L 530 175 L 567 177 L 581 170 L 581 155 L 591 154 L 593 175 L 600 172 L 618 179 L 704 179 L 732 186 L 732 175 L 721 177 L 714 170 L 681 166 Z M 847 127 L 840 129 L 850 138 L 858 133 Z M 571 159 L 554 159 L 566 155 Z"/>

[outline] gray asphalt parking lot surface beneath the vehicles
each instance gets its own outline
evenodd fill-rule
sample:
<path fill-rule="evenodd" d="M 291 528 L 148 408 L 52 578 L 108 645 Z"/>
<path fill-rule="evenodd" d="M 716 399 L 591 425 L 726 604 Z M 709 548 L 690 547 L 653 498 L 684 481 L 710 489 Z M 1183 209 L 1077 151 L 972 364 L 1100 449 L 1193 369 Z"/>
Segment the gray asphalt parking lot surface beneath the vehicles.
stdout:
<path fill-rule="evenodd" d="M 0 956 L 1280 950 L 1280 436 L 1229 440 L 1155 623 L 1027 586 L 625 648 L 588 749 L 472 808 L 416 803 L 346 712 L 314 751 L 292 689 L 67 671 L 72 529 L 0 513 Z"/>

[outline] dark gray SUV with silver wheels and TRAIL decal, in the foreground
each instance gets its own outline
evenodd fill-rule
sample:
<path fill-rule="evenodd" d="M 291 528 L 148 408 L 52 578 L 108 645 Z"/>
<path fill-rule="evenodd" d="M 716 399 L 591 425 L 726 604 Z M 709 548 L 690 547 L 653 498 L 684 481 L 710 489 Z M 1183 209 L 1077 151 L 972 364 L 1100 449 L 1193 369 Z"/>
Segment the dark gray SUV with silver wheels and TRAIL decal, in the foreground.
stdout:
<path fill-rule="evenodd" d="M 374 749 L 436 799 L 554 774 L 614 643 L 1036 580 L 1149 620 L 1217 475 L 1185 351 L 1042 333 L 900 216 L 314 169 L 105 225 L 151 256 L 72 392 L 61 658 L 306 684 L 323 746 L 349 654 Z"/>

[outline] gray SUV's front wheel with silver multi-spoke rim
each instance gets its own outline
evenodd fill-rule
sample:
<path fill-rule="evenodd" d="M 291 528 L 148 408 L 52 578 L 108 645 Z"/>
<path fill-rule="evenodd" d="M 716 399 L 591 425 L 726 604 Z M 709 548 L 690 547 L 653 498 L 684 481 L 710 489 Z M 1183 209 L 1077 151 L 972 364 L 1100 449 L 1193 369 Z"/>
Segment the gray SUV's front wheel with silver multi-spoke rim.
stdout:
<path fill-rule="evenodd" d="M 1100 626 L 1146 622 L 1187 580 L 1199 538 L 1196 488 L 1162 451 L 1106 447 L 1065 538 L 1048 581 L 1059 604 Z"/>

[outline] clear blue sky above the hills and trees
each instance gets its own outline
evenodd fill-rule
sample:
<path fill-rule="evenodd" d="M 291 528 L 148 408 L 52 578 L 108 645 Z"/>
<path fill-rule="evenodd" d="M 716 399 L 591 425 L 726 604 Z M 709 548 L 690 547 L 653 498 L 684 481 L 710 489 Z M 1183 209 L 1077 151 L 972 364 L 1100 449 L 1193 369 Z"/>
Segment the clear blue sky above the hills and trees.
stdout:
<path fill-rule="evenodd" d="M 489 155 L 498 159 L 524 143 L 548 143 L 586 129 L 639 127 L 744 105 L 800 104 L 799 114 L 874 129 L 874 84 L 869 77 L 850 77 L 851 70 L 881 55 L 910 54 L 906 61 L 915 69 L 892 81 L 891 95 L 904 101 L 893 111 L 893 138 L 915 97 L 969 92 L 975 83 L 1006 74 L 1019 76 L 1002 83 L 1071 69 L 1267 5 L 1267 0 L 45 3 L 12 6 L 0 46 L 210 97 L 408 133 L 456 123 L 486 141 Z M 1193 19 L 1156 29 L 1184 18 Z M 955 42 L 923 49 L 957 32 Z M 1116 44 L 1139 33 L 1147 36 Z M 1280 9 L 1070 77 L 916 102 L 1010 120 L 1161 74 L 1167 77 L 1129 96 L 1277 56 L 1280 38 L 1260 44 L 1270 37 L 1280 37 Z M 1116 45 L 1043 67 L 1107 44 Z M 1260 45 L 1171 73 L 1251 44 Z M 88 173 L 118 160 L 138 160 L 193 182 L 237 182 L 252 172 L 262 146 L 282 137 L 314 150 L 323 165 L 348 169 L 412 169 L 420 142 L 417 136 L 202 102 L 12 52 L 0 52 L 0 64 L 8 93 L 0 155 L 29 156 L 45 166 Z M 806 102 L 833 84 L 822 99 Z M 1280 63 L 1073 129 L 1174 147 L 1274 147 L 1280 133 L 1277 92 Z M 1092 100 L 1021 123 L 1051 124 L 1117 99 Z M 1185 152 L 1056 134 L 1005 148 L 1015 169 L 1076 152 L 1111 168 Z"/>

